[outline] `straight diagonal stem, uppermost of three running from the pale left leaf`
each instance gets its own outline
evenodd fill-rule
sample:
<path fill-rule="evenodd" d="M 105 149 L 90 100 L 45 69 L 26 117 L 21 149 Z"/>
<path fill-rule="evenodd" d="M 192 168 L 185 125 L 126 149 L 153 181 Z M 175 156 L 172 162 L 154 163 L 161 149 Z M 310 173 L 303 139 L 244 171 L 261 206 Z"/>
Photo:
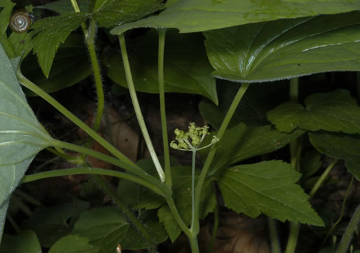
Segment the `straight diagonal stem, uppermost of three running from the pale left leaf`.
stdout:
<path fill-rule="evenodd" d="M 24 77 L 20 69 L 18 69 L 17 71 L 17 77 L 19 82 L 23 86 L 25 86 L 26 88 L 28 88 L 29 90 L 40 96 L 41 98 L 45 99 L 45 101 L 47 101 L 50 105 L 52 105 L 58 111 L 60 111 L 61 114 L 63 114 L 64 116 L 69 118 L 69 120 L 71 120 L 74 124 L 76 124 L 77 127 L 80 127 L 80 129 L 82 129 L 85 133 L 93 137 L 93 139 L 95 139 L 95 141 L 98 142 L 101 146 L 104 146 L 104 148 L 106 148 L 106 150 L 108 150 L 112 155 L 117 157 L 117 159 L 123 161 L 123 163 L 127 163 L 128 165 L 132 165 L 134 167 L 139 168 L 139 166 L 136 165 L 136 163 L 128 159 L 128 157 L 126 157 L 119 150 L 117 150 L 115 146 L 112 146 L 109 142 L 106 141 L 106 139 L 98 135 L 95 131 L 93 131 L 93 129 L 91 129 L 91 127 L 88 127 L 87 124 L 82 122 L 82 120 L 80 120 L 74 114 L 72 114 L 71 111 L 69 111 L 63 105 L 58 103 L 58 101 L 56 101 L 52 96 L 47 94 L 47 92 L 45 92 L 44 90 L 39 88 L 38 85 L 32 83 L 32 81 L 29 81 L 29 79 Z M 141 168 L 139 169 L 141 170 Z"/>

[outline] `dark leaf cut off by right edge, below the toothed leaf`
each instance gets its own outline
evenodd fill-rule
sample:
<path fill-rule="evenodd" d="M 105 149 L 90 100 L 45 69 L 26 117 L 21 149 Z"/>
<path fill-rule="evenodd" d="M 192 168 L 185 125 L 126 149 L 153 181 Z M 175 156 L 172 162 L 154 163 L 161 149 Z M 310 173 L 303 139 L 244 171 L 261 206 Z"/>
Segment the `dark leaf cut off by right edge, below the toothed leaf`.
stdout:
<path fill-rule="evenodd" d="M 309 133 L 311 144 L 322 154 L 344 159 L 346 168 L 360 180 L 360 136 L 345 133 Z"/>

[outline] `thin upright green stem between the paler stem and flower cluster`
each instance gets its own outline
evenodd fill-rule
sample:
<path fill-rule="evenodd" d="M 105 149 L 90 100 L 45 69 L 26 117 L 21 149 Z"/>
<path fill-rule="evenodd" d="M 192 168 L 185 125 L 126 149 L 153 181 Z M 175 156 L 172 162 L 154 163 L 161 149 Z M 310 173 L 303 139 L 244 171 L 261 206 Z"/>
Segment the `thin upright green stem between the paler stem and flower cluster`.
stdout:
<path fill-rule="evenodd" d="M 159 46 L 158 46 L 158 82 L 159 82 L 159 96 L 160 96 L 160 115 L 161 115 L 161 129 L 163 131 L 163 146 L 165 159 L 165 184 L 171 187 L 171 168 L 170 168 L 170 154 L 169 154 L 169 140 L 167 139 L 167 120 L 165 110 L 165 81 L 164 81 L 164 51 L 165 51 L 165 34 L 166 28 L 158 28 Z"/>

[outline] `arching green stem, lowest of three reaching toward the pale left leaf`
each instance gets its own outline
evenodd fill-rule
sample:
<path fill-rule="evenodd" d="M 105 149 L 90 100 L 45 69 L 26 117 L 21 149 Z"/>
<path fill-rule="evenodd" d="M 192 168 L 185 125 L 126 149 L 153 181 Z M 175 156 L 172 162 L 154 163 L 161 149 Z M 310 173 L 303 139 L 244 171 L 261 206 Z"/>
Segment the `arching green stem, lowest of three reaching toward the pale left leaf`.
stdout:
<path fill-rule="evenodd" d="M 105 169 L 93 168 L 93 167 L 75 167 L 75 168 L 61 169 L 61 170 L 50 170 L 47 172 L 39 172 L 32 175 L 26 175 L 23 177 L 21 184 L 29 183 L 32 181 L 37 181 L 45 178 L 52 178 L 56 176 L 69 176 L 69 175 L 79 175 L 79 174 L 95 174 L 95 175 L 114 176 L 116 178 L 123 178 L 128 181 L 132 181 L 134 183 L 139 183 L 140 185 L 143 185 L 151 189 L 156 194 L 163 195 L 163 189 L 160 189 L 160 187 L 157 187 L 156 185 L 153 185 L 152 183 L 145 181 L 143 178 L 139 178 L 138 176 L 134 176 L 130 173 L 118 172 L 116 170 L 105 170 Z"/>

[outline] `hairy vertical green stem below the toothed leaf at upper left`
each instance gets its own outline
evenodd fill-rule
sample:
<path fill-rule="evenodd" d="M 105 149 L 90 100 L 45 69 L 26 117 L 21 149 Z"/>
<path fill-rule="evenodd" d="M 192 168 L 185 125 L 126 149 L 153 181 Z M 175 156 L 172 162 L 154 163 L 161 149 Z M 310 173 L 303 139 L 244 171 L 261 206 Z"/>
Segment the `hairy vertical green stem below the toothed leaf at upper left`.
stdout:
<path fill-rule="evenodd" d="M 97 55 L 95 51 L 96 21 L 93 18 L 91 19 L 88 31 L 89 32 L 88 32 L 88 36 L 86 37 L 86 44 L 88 44 L 88 53 L 90 55 L 91 65 L 93 66 L 93 74 L 94 74 L 96 94 L 97 94 L 97 111 L 96 111 L 95 122 L 93 125 L 93 130 L 97 132 L 99 131 L 101 118 L 104 114 L 105 98 L 104 98 L 103 84 L 101 81 L 99 61 L 97 60 Z"/>

